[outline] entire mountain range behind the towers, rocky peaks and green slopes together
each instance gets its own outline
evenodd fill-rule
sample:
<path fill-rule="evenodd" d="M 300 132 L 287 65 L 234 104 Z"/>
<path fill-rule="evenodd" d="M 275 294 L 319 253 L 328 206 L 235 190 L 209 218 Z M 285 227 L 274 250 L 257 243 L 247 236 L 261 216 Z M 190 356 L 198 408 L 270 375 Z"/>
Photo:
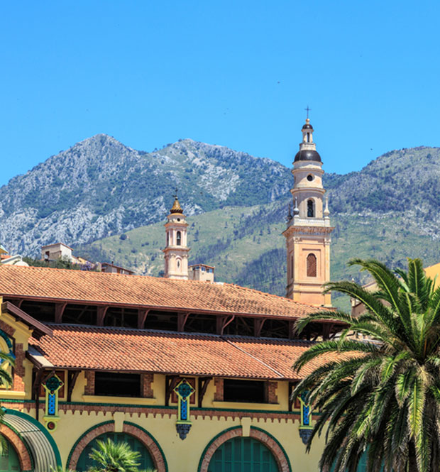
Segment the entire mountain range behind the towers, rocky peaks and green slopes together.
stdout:
<path fill-rule="evenodd" d="M 63 241 L 92 260 L 159 275 L 178 187 L 190 262 L 216 265 L 217 280 L 283 295 L 291 185 L 280 163 L 222 146 L 185 139 L 145 153 L 97 135 L 1 187 L 0 241 L 30 256 Z M 333 280 L 363 280 L 346 265 L 353 256 L 394 266 L 407 256 L 439 261 L 440 148 L 393 150 L 358 172 L 326 173 L 324 186 Z"/>

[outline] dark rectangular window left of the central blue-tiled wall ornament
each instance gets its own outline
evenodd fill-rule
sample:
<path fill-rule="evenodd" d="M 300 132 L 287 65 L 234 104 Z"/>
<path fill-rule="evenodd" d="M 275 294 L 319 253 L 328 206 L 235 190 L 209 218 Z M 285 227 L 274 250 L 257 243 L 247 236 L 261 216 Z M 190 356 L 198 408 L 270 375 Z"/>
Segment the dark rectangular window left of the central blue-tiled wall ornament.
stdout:
<path fill-rule="evenodd" d="M 108 397 L 140 397 L 141 375 L 97 372 L 94 377 L 94 394 Z"/>

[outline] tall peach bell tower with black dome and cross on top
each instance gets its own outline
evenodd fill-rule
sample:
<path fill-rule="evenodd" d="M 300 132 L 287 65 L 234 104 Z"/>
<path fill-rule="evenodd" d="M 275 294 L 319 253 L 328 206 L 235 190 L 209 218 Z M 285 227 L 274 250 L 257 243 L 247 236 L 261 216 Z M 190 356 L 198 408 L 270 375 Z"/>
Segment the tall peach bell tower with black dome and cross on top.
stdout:
<path fill-rule="evenodd" d="M 308 110 L 307 110 L 308 112 Z M 313 127 L 307 116 L 302 142 L 293 163 L 293 215 L 287 216 L 283 235 L 287 245 L 286 297 L 296 302 L 331 306 L 331 295 L 322 295 L 330 280 L 329 207 L 324 200 L 321 156 L 313 141 Z"/>

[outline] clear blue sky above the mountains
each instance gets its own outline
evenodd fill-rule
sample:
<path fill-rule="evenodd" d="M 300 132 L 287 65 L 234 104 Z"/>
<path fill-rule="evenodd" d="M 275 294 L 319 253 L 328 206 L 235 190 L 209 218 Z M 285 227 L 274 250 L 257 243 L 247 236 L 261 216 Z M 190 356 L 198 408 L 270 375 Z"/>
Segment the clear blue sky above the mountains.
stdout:
<path fill-rule="evenodd" d="M 96 133 L 328 172 L 440 146 L 436 1 L 22 1 L 0 16 L 0 185 Z"/>

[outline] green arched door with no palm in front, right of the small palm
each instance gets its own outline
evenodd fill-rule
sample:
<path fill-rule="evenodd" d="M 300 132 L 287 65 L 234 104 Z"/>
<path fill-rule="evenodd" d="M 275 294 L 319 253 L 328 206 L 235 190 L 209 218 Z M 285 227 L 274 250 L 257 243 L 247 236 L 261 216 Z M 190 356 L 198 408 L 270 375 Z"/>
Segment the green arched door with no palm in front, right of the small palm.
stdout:
<path fill-rule="evenodd" d="M 208 472 L 279 472 L 275 457 L 260 441 L 236 437 L 214 452 Z"/>

